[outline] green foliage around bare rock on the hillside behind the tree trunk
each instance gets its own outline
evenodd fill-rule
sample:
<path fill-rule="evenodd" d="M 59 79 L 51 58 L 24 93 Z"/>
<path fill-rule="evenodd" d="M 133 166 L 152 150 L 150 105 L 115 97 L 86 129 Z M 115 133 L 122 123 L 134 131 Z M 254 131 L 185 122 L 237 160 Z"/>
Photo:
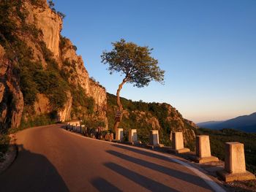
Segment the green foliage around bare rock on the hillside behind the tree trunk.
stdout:
<path fill-rule="evenodd" d="M 116 109 L 116 96 L 109 94 L 108 97 L 108 111 L 107 118 L 108 124 L 111 131 L 114 131 L 114 119 L 115 119 L 115 109 Z M 121 103 L 124 109 L 129 112 L 129 118 L 126 115 L 123 116 L 119 128 L 124 128 L 124 130 L 129 130 L 130 128 L 137 128 L 138 139 L 143 143 L 149 142 L 149 134 L 152 129 L 152 125 L 146 121 L 146 119 L 141 118 L 138 120 L 136 111 L 148 112 L 151 117 L 157 118 L 161 129 L 159 130 L 159 140 L 162 144 L 170 146 L 170 130 L 171 125 L 167 122 L 166 118 L 168 115 L 167 107 L 165 104 L 159 103 L 146 103 L 143 101 L 132 101 L 128 99 L 121 98 Z M 147 113 L 146 113 L 147 114 Z M 176 127 L 176 126 L 174 126 Z"/>

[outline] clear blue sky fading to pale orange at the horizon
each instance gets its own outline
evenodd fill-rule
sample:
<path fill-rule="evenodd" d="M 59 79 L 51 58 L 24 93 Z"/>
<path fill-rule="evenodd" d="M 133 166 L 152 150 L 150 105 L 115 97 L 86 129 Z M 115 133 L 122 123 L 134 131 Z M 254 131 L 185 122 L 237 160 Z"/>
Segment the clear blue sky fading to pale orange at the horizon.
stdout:
<path fill-rule="evenodd" d="M 255 0 L 55 0 L 91 77 L 116 93 L 122 77 L 101 64 L 121 38 L 153 47 L 165 85 L 124 85 L 121 96 L 167 102 L 196 123 L 256 112 Z"/>

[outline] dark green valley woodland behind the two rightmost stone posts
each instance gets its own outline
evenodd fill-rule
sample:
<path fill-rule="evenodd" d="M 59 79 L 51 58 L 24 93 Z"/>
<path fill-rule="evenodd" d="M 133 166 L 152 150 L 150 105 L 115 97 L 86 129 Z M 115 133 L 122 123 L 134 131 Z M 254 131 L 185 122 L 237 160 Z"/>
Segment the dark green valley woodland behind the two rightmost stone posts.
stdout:
<path fill-rule="evenodd" d="M 199 128 L 196 134 L 207 134 L 211 142 L 211 154 L 225 159 L 225 142 L 244 143 L 246 169 L 256 173 L 256 134 L 245 133 L 235 129 L 211 130 Z"/>

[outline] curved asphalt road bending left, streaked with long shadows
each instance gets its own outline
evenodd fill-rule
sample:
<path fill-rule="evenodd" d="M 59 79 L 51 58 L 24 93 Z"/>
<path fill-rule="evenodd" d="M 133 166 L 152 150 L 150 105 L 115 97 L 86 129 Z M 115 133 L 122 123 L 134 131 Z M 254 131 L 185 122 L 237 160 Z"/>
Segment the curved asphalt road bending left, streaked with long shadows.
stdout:
<path fill-rule="evenodd" d="M 61 125 L 29 128 L 16 137 L 18 157 L 0 175 L 0 191 L 214 191 L 178 161 L 72 134 Z"/>

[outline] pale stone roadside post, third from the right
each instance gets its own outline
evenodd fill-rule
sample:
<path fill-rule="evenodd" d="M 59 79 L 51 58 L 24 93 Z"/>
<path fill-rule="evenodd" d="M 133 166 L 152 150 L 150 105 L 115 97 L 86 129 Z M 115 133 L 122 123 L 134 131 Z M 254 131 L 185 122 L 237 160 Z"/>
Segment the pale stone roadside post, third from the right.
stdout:
<path fill-rule="evenodd" d="M 187 153 L 190 151 L 188 148 L 184 148 L 182 132 L 172 133 L 172 143 L 173 143 L 173 151 L 175 153 Z"/>

